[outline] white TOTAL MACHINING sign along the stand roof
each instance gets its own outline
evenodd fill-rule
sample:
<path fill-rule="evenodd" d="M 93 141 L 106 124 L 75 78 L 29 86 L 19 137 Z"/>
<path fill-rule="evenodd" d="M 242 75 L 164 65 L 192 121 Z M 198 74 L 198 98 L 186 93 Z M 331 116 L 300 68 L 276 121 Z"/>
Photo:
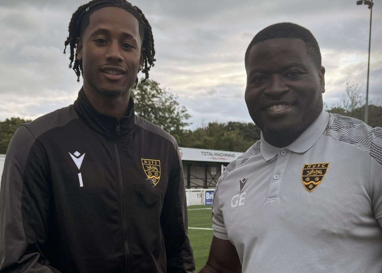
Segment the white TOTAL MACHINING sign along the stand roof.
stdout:
<path fill-rule="evenodd" d="M 195 149 L 185 147 L 179 147 L 179 153 L 182 160 L 226 163 L 235 160 L 243 154 L 241 152 Z"/>

